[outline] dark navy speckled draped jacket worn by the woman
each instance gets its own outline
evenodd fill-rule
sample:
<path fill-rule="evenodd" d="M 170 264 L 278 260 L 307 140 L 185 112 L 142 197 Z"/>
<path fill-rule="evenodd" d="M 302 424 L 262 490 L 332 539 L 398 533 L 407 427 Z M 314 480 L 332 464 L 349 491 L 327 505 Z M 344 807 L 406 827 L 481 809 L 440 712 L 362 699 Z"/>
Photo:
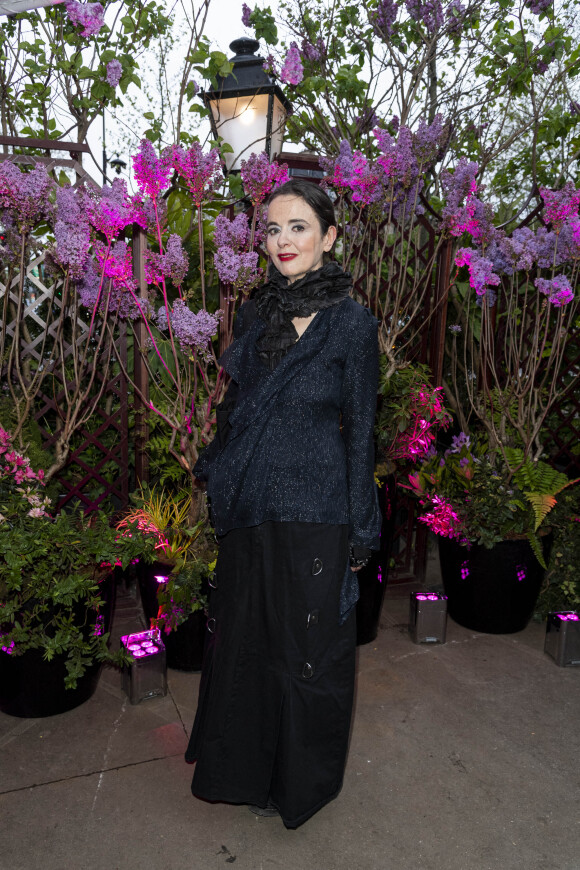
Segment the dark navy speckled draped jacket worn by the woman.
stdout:
<path fill-rule="evenodd" d="M 264 323 L 253 303 L 238 319 L 242 334 L 221 359 L 236 392 L 227 440 L 212 442 L 195 468 L 217 534 L 267 520 L 338 523 L 352 545 L 378 549 L 377 321 L 346 298 L 318 312 L 269 371 L 255 348 Z"/>

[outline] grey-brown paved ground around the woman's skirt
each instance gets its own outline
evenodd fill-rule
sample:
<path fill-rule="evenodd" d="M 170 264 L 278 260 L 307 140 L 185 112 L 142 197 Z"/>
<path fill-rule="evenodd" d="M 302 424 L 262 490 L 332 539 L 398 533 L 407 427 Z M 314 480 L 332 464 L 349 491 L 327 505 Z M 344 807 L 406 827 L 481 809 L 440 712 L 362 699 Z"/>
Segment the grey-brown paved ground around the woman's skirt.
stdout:
<path fill-rule="evenodd" d="M 342 794 L 297 831 L 191 796 L 198 675 L 131 706 L 107 670 L 62 716 L 0 714 L 0 870 L 580 870 L 580 668 L 538 624 L 417 646 L 409 591 L 359 650 Z M 121 597 L 117 634 L 138 619 Z"/>

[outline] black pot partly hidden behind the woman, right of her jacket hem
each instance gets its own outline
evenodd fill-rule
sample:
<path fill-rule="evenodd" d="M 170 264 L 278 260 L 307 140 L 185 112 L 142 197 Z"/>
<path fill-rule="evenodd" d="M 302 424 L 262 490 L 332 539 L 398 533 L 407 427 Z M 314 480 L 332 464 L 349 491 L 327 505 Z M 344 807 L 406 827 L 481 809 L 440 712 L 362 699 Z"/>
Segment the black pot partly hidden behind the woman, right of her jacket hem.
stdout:
<path fill-rule="evenodd" d="M 357 646 L 372 643 L 379 633 L 379 621 L 387 574 L 395 532 L 395 511 L 397 486 L 394 475 L 382 478 L 379 488 L 379 506 L 383 515 L 381 526 L 381 548 L 373 553 L 366 567 L 358 572 L 360 598 L 356 605 L 356 642 Z"/>

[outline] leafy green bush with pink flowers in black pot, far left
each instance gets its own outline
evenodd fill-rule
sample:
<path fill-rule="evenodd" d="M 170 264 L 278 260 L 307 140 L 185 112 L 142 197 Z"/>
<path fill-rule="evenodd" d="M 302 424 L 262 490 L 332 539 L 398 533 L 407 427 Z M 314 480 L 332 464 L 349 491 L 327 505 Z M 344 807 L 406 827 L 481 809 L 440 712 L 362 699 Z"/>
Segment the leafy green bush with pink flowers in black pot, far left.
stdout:
<path fill-rule="evenodd" d="M 72 709 L 122 661 L 107 647 L 111 574 L 137 551 L 103 514 L 52 517 L 43 486 L 0 428 L 0 708 L 16 716 Z"/>

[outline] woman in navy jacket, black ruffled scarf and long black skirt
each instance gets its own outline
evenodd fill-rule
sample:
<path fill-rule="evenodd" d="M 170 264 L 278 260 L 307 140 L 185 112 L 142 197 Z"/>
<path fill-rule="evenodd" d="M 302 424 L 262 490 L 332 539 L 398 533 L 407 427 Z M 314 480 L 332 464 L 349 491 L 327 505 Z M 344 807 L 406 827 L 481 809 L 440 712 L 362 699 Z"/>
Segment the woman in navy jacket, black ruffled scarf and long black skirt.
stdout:
<path fill-rule="evenodd" d="M 196 467 L 220 550 L 186 759 L 197 797 L 295 828 L 344 773 L 353 572 L 379 545 L 377 322 L 324 263 L 337 230 L 323 191 L 276 189 L 267 232 L 268 282 L 238 314 L 219 436 Z"/>

